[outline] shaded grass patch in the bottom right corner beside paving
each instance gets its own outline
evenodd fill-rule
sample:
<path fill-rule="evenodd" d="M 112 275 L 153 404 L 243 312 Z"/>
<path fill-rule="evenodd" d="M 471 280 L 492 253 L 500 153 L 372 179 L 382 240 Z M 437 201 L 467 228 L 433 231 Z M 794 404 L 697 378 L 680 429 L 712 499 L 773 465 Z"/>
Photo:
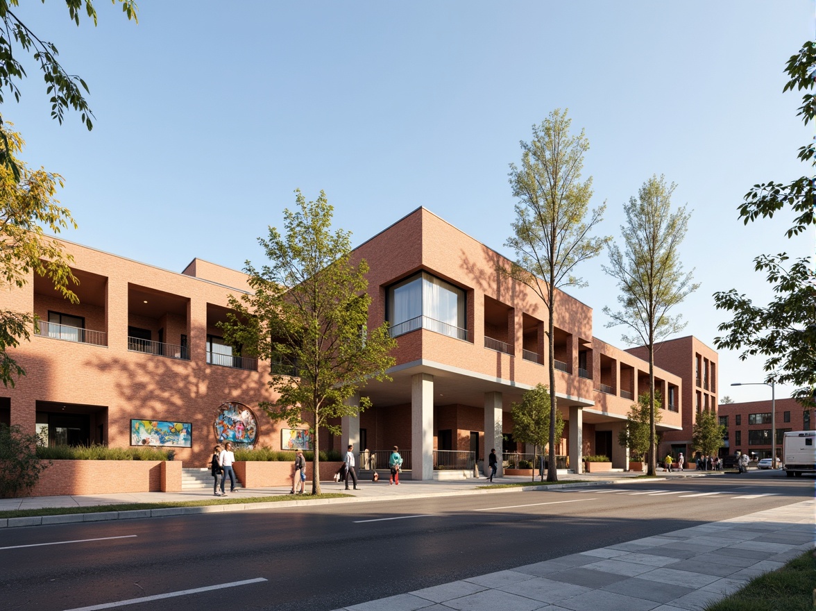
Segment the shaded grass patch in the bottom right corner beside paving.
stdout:
<path fill-rule="evenodd" d="M 816 555 L 805 551 L 782 569 L 753 578 L 742 590 L 709 604 L 706 611 L 813 611 Z"/>

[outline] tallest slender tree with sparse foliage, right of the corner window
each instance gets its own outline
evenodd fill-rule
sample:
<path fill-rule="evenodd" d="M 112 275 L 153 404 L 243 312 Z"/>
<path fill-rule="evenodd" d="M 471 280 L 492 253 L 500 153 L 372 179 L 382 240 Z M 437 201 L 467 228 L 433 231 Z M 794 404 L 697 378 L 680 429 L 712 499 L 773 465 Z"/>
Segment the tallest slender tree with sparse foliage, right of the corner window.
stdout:
<path fill-rule="evenodd" d="M 553 110 L 538 126 L 533 139 L 521 140 L 521 167 L 510 164 L 509 182 L 515 206 L 513 236 L 505 243 L 516 252 L 509 266 L 499 273 L 526 284 L 548 311 L 549 387 L 556 387 L 555 314 L 557 291 L 583 287 L 574 276 L 575 266 L 596 256 L 608 238 L 591 237 L 592 228 L 601 222 L 605 204 L 589 212 L 592 177 L 581 181 L 583 155 L 589 141 L 583 135 L 570 135 L 567 111 Z M 549 466 L 547 480 L 558 481 L 556 467 L 556 394 L 550 395 Z"/>

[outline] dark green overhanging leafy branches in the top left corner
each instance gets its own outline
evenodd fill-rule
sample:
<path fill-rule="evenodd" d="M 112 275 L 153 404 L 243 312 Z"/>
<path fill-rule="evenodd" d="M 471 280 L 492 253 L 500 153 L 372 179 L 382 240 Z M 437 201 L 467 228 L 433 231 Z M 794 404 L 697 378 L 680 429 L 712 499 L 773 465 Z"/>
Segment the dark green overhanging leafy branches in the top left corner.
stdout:
<path fill-rule="evenodd" d="M 112 2 L 113 4 L 121 2 L 122 11 L 124 11 L 127 19 L 138 22 L 135 0 L 112 0 Z M 96 25 L 96 9 L 92 0 L 65 0 L 65 4 L 68 7 L 69 17 L 77 25 L 79 25 L 82 12 L 85 12 L 86 16 L 92 19 L 94 25 Z M 83 5 L 84 11 L 82 10 Z M 20 101 L 20 88 L 17 83 L 27 74 L 16 55 L 16 48 L 19 47 L 20 51 L 31 53 L 33 60 L 39 63 L 42 78 L 46 83 L 46 94 L 51 96 L 51 118 L 55 118 L 62 123 L 65 111 L 73 108 L 80 113 L 82 123 L 85 124 L 88 130 L 91 130 L 93 128 L 91 118 L 94 115 L 88 107 L 82 92 L 88 93 L 88 86 L 82 78 L 66 72 L 59 60 L 57 60 L 60 52 L 57 51 L 53 42 L 47 42 L 39 38 L 11 10 L 12 7 L 19 6 L 20 0 L 2 0 L 0 2 L 0 20 L 2 20 L 2 35 L 0 35 L 0 104 L 6 101 L 3 90 L 9 91 L 16 101 Z M 2 127 L 2 118 L 0 118 L 0 127 Z M 2 143 L 0 163 L 7 166 L 16 180 L 19 181 L 20 170 L 14 163 L 9 143 L 4 137 L 0 138 L 0 143 Z"/>

